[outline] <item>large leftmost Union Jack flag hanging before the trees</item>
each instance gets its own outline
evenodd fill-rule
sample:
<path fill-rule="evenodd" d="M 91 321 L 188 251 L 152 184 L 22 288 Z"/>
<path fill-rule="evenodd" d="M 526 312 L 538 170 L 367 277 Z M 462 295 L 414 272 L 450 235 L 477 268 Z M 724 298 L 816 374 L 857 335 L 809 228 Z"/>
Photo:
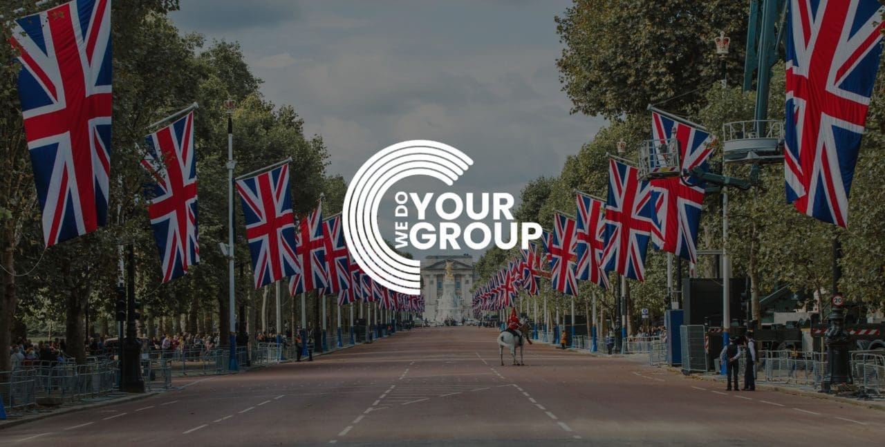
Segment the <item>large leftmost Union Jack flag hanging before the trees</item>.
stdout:
<path fill-rule="evenodd" d="M 19 100 L 47 247 L 104 227 L 111 172 L 111 1 L 15 21 Z"/>

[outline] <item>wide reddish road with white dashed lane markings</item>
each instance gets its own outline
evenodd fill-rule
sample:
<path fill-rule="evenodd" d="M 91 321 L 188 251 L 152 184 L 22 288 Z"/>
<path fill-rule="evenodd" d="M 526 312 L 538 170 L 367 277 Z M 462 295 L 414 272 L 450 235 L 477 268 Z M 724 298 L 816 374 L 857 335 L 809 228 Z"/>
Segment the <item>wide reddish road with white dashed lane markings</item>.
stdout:
<path fill-rule="evenodd" d="M 725 392 L 627 358 L 536 343 L 527 347 L 527 366 L 500 366 L 495 336 L 473 327 L 403 331 L 313 362 L 176 381 L 182 389 L 5 428 L 0 444 L 876 445 L 885 438 L 885 412 L 774 391 Z"/>

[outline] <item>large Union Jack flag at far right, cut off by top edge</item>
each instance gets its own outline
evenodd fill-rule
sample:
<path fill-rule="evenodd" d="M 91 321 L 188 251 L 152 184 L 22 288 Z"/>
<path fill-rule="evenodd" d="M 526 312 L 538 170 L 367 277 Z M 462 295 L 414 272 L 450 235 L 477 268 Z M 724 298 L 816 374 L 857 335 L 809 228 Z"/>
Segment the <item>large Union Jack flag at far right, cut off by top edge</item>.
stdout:
<path fill-rule="evenodd" d="M 787 201 L 848 225 L 848 196 L 881 56 L 875 0 L 790 0 L 787 16 Z"/>

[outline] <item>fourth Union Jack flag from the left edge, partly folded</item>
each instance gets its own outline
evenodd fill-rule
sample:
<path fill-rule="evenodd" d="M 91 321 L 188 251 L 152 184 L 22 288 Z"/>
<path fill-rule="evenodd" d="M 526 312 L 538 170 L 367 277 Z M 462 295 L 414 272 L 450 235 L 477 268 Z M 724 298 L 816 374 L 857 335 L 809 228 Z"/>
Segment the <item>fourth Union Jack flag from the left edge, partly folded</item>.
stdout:
<path fill-rule="evenodd" d="M 301 220 L 298 229 L 295 251 L 298 266 L 301 268 L 289 278 L 289 292 L 292 295 L 327 286 L 322 202 L 317 204 L 317 209 Z"/>

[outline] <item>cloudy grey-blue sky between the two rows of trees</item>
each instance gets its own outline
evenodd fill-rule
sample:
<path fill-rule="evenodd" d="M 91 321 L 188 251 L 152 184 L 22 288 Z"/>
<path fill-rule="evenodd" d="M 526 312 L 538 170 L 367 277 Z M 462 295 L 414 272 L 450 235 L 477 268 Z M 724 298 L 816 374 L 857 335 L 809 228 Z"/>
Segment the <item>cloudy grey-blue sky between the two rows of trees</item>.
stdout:
<path fill-rule="evenodd" d="M 261 91 L 321 135 L 349 181 L 390 144 L 427 139 L 473 158 L 455 186 L 406 180 L 379 212 L 393 240 L 395 190 L 509 192 L 558 175 L 604 119 L 570 115 L 554 16 L 566 0 L 181 0 L 182 31 L 242 45 Z M 292 179 L 297 181 L 297 179 Z M 467 220 L 461 221 L 466 225 Z M 476 250 L 413 251 L 416 258 Z"/>

